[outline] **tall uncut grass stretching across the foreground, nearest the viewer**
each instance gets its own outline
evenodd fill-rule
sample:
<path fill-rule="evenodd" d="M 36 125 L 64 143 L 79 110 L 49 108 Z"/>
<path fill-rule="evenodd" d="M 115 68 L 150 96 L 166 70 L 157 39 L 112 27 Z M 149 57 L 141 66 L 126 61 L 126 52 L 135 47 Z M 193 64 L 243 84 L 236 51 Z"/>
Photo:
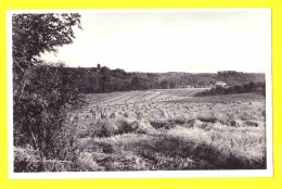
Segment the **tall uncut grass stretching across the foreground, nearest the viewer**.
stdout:
<path fill-rule="evenodd" d="M 17 160 L 26 156 L 20 163 L 27 162 L 29 172 L 36 166 L 47 172 L 266 168 L 264 124 L 200 118 L 92 119 L 84 128 L 74 119 L 57 141 L 60 161 L 36 164 L 33 153 L 21 149 Z"/>

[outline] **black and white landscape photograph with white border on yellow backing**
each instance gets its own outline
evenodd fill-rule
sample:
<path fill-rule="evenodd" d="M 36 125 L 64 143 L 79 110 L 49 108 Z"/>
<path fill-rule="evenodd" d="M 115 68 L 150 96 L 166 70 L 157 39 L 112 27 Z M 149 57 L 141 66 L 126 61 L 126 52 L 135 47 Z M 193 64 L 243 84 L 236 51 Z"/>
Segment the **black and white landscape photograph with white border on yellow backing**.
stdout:
<path fill-rule="evenodd" d="M 272 174 L 270 9 L 8 21 L 11 175 Z"/>

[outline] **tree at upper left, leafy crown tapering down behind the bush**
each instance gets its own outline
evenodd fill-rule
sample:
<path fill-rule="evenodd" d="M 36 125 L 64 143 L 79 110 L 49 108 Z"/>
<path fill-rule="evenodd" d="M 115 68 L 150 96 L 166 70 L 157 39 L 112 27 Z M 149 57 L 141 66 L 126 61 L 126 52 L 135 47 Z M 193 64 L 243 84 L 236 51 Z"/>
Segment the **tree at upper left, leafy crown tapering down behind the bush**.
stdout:
<path fill-rule="evenodd" d="M 21 98 L 33 65 L 39 63 L 41 52 L 57 52 L 56 47 L 68 45 L 75 38 L 73 27 L 80 26 L 80 15 L 14 14 L 12 16 L 12 54 L 14 94 Z M 18 81 L 21 80 L 21 81 Z"/>

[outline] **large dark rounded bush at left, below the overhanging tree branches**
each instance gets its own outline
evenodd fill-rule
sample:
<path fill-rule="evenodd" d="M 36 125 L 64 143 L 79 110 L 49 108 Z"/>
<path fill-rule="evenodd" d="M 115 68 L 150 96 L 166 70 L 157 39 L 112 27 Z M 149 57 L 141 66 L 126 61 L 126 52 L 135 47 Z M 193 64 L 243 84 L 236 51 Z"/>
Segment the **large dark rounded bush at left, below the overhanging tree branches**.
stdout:
<path fill-rule="evenodd" d="M 21 92 L 14 93 L 14 144 L 30 144 L 47 159 L 54 156 L 56 134 L 66 112 L 82 104 L 75 77 L 62 65 L 33 67 Z M 18 86 L 20 80 L 14 80 Z"/>

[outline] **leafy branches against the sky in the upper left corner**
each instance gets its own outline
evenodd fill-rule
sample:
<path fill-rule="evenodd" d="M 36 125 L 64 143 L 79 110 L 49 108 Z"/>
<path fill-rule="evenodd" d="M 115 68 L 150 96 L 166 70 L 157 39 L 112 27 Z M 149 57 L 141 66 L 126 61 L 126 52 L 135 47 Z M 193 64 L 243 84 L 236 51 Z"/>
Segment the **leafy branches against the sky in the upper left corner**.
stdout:
<path fill-rule="evenodd" d="M 80 27 L 79 14 L 14 14 L 13 54 L 30 61 L 40 52 L 73 42 L 73 26 Z"/>

